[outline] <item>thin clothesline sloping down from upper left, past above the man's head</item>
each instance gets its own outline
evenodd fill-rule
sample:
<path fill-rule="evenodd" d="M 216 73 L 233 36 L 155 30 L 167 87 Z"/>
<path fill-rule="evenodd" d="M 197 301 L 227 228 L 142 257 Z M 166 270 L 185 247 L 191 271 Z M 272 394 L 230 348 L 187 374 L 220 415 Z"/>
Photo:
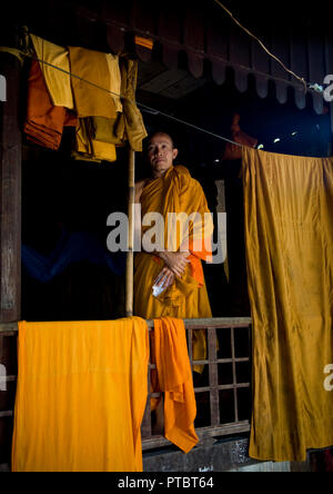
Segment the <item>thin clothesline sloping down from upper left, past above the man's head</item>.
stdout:
<path fill-rule="evenodd" d="M 6 48 L 6 47 L 2 47 L 2 48 Z M 10 49 L 8 49 L 8 50 L 10 50 Z M 88 79 L 84 79 L 84 78 L 82 78 L 82 77 L 80 77 L 80 76 L 77 76 L 75 73 L 72 73 L 71 71 L 64 70 L 64 69 L 62 69 L 61 67 L 57 67 L 57 66 L 54 66 L 53 63 L 47 62 L 46 60 L 42 60 L 42 59 L 40 59 L 40 58 L 38 58 L 38 57 L 34 57 L 34 56 L 31 55 L 31 53 L 24 52 L 24 51 L 22 51 L 22 50 L 16 50 L 16 51 L 17 51 L 18 53 L 22 55 L 23 57 L 29 57 L 29 58 L 31 58 L 32 60 L 36 60 L 36 61 L 38 61 L 38 62 L 40 62 L 40 63 L 44 63 L 44 65 L 47 65 L 47 66 L 49 66 L 49 67 L 52 67 L 53 69 L 60 70 L 61 72 L 67 73 L 67 75 L 70 76 L 70 77 L 77 78 L 77 79 L 81 80 L 82 82 L 85 82 L 85 83 L 88 83 L 88 85 L 91 85 L 91 86 L 95 87 L 97 89 L 100 89 L 100 90 L 102 90 L 102 91 L 107 91 L 107 92 L 109 92 L 110 95 L 115 96 L 117 98 L 127 99 L 127 101 L 129 101 L 130 103 L 134 103 L 134 105 L 137 103 L 137 105 L 140 106 L 142 109 L 149 110 L 150 112 L 152 112 L 152 113 L 154 113 L 154 115 L 161 115 L 162 117 L 169 118 L 170 120 L 173 120 L 173 121 L 175 121 L 175 122 L 178 122 L 178 124 L 184 125 L 184 126 L 186 126 L 186 127 L 190 127 L 190 128 L 192 128 L 192 129 L 195 129 L 195 130 L 198 130 L 198 131 L 201 131 L 201 132 L 203 132 L 203 134 L 206 134 L 206 135 L 209 135 L 209 136 L 211 136 L 211 137 L 215 137 L 216 139 L 224 140 L 225 142 L 229 142 L 229 144 L 232 144 L 232 145 L 235 145 L 235 146 L 239 146 L 239 147 L 243 147 L 243 146 L 244 146 L 244 145 L 242 145 L 242 144 L 240 144 L 240 142 L 235 142 L 235 141 L 232 140 L 232 139 L 228 139 L 226 137 L 220 136 L 220 135 L 218 135 L 218 134 L 211 132 L 210 130 L 203 129 L 202 127 L 195 126 L 194 124 L 190 124 L 190 122 L 188 122 L 188 121 L 185 121 L 185 120 L 182 120 L 182 119 L 180 119 L 180 118 L 173 117 L 172 115 L 165 113 L 164 111 L 161 111 L 161 110 L 158 110 L 158 109 L 155 109 L 155 108 L 149 107 L 148 105 L 141 103 L 140 101 L 132 101 L 131 99 L 129 99 L 129 98 L 122 96 L 121 93 L 113 92 L 113 91 L 111 91 L 110 89 L 103 88 L 102 86 L 99 86 L 99 85 L 97 85 L 97 83 L 94 83 L 94 82 L 91 82 L 91 81 L 89 81 Z M 11 51 L 10 51 L 10 52 L 11 52 Z"/>

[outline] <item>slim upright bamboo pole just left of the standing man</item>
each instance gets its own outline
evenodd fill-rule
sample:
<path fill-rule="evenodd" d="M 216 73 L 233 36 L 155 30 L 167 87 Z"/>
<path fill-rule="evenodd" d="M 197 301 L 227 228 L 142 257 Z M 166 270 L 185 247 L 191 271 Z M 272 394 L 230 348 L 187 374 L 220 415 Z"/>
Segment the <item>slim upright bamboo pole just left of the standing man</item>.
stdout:
<path fill-rule="evenodd" d="M 129 251 L 127 257 L 125 315 L 133 315 L 133 274 L 134 274 L 134 177 L 135 152 L 129 148 Z"/>

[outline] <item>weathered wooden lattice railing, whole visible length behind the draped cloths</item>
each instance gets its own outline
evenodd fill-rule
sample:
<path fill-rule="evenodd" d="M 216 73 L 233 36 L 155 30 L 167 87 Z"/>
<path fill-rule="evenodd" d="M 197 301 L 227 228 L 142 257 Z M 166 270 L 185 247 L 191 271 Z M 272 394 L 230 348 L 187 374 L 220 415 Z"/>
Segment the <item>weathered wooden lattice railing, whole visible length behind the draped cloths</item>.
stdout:
<path fill-rule="evenodd" d="M 195 431 L 200 444 L 210 444 L 214 437 L 239 434 L 250 429 L 250 340 L 251 318 L 184 319 L 191 365 L 202 365 L 202 374 L 194 373 L 193 383 L 198 414 Z M 153 322 L 148 322 L 153 330 Z M 192 335 L 195 329 L 206 332 L 208 356 L 205 360 L 193 360 Z M 0 464 L 9 463 L 12 417 L 17 384 L 17 323 L 0 324 L 0 365 L 6 376 L 0 376 Z M 155 432 L 149 396 L 142 421 L 143 451 L 169 445 L 161 432 Z M 243 368 L 242 368 L 243 367 Z M 6 391 L 3 391 L 6 383 Z"/>

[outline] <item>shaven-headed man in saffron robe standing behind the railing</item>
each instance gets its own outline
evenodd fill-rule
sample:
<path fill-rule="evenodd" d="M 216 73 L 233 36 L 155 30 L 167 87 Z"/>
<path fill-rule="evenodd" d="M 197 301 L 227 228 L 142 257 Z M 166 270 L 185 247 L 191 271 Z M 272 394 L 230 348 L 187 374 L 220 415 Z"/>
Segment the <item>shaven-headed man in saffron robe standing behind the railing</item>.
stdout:
<path fill-rule="evenodd" d="M 135 185 L 135 202 L 141 205 L 141 218 L 159 213 L 165 226 L 162 248 L 160 241 L 155 249 L 135 255 L 134 314 L 145 319 L 212 317 L 201 259 L 211 260 L 213 224 L 201 185 L 185 167 L 173 165 L 176 156 L 178 149 L 168 134 L 150 136 L 147 157 L 151 176 Z M 185 218 L 198 215 L 186 224 L 188 228 L 181 225 L 172 230 L 171 221 L 168 221 L 170 213 L 183 213 Z M 141 218 L 135 220 L 137 229 Z M 142 239 L 150 228 L 150 225 L 142 226 Z M 160 295 L 153 294 L 154 285 L 163 287 Z M 192 349 L 194 360 L 205 358 L 203 330 L 193 332 Z M 201 372 L 202 366 L 193 369 Z"/>

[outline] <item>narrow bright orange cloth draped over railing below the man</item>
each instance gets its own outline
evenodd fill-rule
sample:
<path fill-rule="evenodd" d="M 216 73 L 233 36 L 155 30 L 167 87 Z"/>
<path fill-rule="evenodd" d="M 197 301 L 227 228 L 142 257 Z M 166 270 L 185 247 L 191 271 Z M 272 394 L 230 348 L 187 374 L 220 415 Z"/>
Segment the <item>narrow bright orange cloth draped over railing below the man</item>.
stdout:
<path fill-rule="evenodd" d="M 182 319 L 154 319 L 154 350 L 159 386 L 164 392 L 164 435 L 189 453 L 199 438 L 194 429 L 196 403 Z"/>

